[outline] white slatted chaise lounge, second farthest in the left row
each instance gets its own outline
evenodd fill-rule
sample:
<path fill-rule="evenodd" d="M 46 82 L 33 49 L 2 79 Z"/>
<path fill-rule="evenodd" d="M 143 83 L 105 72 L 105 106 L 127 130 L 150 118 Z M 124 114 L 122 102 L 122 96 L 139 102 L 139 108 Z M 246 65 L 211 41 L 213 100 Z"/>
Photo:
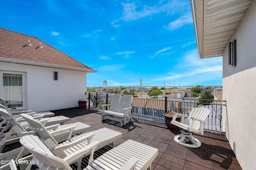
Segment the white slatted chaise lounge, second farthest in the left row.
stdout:
<path fill-rule="evenodd" d="M 24 119 L 22 118 L 21 115 L 13 115 L 9 109 L 7 109 L 6 107 L 4 107 L 3 105 L 0 105 L 0 108 L 5 109 L 6 111 L 8 111 L 8 113 L 10 113 L 10 115 L 12 115 L 17 121 L 19 122 L 24 122 Z M 28 115 L 30 115 L 31 113 L 27 113 Z M 34 114 L 34 113 L 32 113 Z M 69 117 L 66 116 L 54 116 L 54 117 L 48 117 L 48 118 L 44 118 L 44 115 L 37 115 L 34 116 L 34 119 L 38 119 L 38 120 L 47 120 L 45 123 L 46 126 L 50 126 L 50 125 L 55 125 L 60 123 L 61 125 L 64 122 L 70 121 Z M 4 124 L 6 123 L 6 121 L 2 121 L 0 123 L 0 126 L 2 127 Z"/>

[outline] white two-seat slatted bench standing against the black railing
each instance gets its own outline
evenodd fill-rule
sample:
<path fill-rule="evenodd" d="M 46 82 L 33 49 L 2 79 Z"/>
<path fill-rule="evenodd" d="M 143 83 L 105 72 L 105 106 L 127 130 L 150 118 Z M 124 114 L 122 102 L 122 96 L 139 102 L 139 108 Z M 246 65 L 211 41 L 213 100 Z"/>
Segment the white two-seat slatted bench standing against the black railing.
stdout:
<path fill-rule="evenodd" d="M 119 94 L 114 95 L 110 105 L 102 105 L 102 121 L 105 119 L 118 121 L 121 126 L 132 122 L 132 99 L 132 95 L 124 97 Z M 107 106 L 107 110 L 104 110 L 104 106 Z"/>

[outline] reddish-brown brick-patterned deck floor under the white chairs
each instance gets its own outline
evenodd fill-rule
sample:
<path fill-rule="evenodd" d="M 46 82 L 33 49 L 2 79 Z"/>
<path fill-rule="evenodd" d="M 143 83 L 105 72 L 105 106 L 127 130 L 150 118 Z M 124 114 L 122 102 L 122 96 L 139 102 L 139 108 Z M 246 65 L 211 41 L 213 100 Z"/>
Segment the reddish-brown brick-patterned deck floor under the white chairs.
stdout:
<path fill-rule="evenodd" d="M 133 123 L 123 127 L 115 121 L 101 121 L 101 115 L 88 109 L 70 108 L 52 111 L 55 115 L 70 117 L 72 122 L 82 122 L 90 125 L 92 130 L 110 128 L 122 132 L 123 136 L 116 141 L 118 146 L 128 139 L 158 148 L 159 153 L 152 164 L 153 170 L 181 169 L 181 170 L 219 170 L 242 169 L 230 144 L 224 134 L 216 132 L 204 132 L 203 136 L 194 136 L 202 142 L 199 148 L 186 148 L 177 144 L 173 137 L 180 134 L 179 130 L 169 130 L 164 123 L 134 118 Z M 110 147 L 106 146 L 95 155 L 102 154 Z M 86 159 L 83 161 L 84 166 Z"/>

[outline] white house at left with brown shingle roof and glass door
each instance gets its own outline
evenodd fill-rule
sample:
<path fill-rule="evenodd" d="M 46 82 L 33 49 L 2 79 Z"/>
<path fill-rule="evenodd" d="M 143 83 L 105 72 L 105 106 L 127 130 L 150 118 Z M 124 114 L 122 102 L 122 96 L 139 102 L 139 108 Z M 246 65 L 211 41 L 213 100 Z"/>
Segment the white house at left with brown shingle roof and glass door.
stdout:
<path fill-rule="evenodd" d="M 0 97 L 13 109 L 78 106 L 86 74 L 96 72 L 42 40 L 0 28 Z"/>

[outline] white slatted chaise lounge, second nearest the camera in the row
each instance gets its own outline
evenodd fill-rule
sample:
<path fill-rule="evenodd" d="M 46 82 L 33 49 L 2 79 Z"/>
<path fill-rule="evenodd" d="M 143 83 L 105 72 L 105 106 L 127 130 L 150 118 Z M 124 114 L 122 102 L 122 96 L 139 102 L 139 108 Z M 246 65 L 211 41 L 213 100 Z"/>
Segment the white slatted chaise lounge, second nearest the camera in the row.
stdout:
<path fill-rule="evenodd" d="M 102 128 L 102 129 L 94 130 L 93 132 L 87 132 L 84 134 L 77 135 L 69 140 L 62 142 L 61 144 L 58 144 L 58 142 L 46 130 L 46 128 L 42 125 L 42 123 L 40 123 L 39 121 L 33 119 L 28 115 L 22 115 L 22 117 L 24 117 L 24 119 L 28 121 L 29 128 L 34 130 L 38 134 L 38 136 L 40 136 L 40 139 L 44 140 L 44 144 L 46 144 L 46 146 L 51 150 L 51 152 L 54 153 L 54 155 L 58 156 L 59 158 L 65 158 L 66 156 L 73 154 L 74 152 L 77 152 L 78 150 L 90 144 L 90 142 L 95 142 L 95 141 L 99 142 L 97 144 L 96 150 L 110 143 L 112 143 L 112 146 L 114 147 L 114 141 L 122 137 L 122 133 L 120 132 L 116 132 L 108 128 Z M 91 137 L 87 141 L 84 141 L 84 138 L 85 138 L 84 136 L 86 136 L 86 138 L 88 138 L 88 136 L 91 136 Z M 75 143 L 76 141 L 81 141 L 81 142 Z M 75 144 L 72 144 L 72 143 L 75 143 Z M 74 163 L 74 162 L 77 162 L 78 169 L 80 169 L 82 158 L 78 157 L 77 159 L 74 159 L 73 162 L 70 162 L 70 163 Z"/>

